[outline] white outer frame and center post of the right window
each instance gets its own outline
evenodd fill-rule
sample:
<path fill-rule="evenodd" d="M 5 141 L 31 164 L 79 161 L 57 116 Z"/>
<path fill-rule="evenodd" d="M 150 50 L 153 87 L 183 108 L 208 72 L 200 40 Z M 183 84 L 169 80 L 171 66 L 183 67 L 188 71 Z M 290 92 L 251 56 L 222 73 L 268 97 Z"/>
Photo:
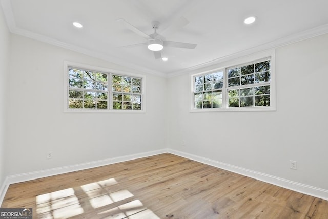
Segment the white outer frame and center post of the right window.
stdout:
<path fill-rule="evenodd" d="M 270 106 L 258 107 L 228 107 L 228 90 L 233 90 L 233 87 L 228 87 L 227 69 L 239 67 L 241 65 L 248 65 L 264 61 L 270 58 L 270 82 L 262 83 L 270 84 Z M 210 70 L 208 70 L 210 69 Z M 221 108 L 202 108 L 194 109 L 194 89 L 195 77 L 211 74 L 214 72 L 223 71 L 223 88 L 222 88 L 222 107 Z M 233 112 L 233 111 L 275 111 L 276 110 L 276 58 L 275 50 L 268 50 L 257 54 L 252 54 L 245 57 L 236 58 L 230 61 L 223 62 L 212 67 L 207 67 L 206 71 L 199 71 L 198 73 L 190 73 L 190 112 Z M 253 84 L 254 85 L 254 84 Z M 248 85 L 247 85 L 248 86 Z M 236 86 L 237 87 L 237 86 Z M 240 87 L 239 87 L 240 88 Z"/>

